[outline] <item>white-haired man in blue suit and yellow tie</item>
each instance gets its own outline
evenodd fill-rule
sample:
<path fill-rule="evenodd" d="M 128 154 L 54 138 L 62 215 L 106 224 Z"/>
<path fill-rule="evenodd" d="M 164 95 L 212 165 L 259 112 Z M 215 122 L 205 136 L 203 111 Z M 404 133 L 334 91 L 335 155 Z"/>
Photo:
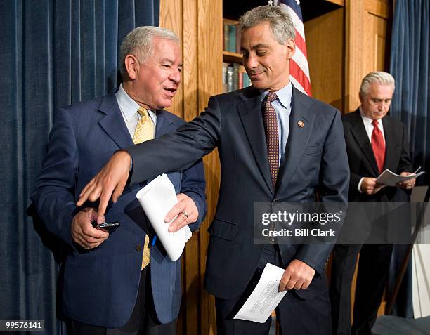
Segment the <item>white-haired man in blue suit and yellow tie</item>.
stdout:
<path fill-rule="evenodd" d="M 74 204 L 115 151 L 184 123 L 163 110 L 181 81 L 178 37 L 167 29 L 138 27 L 125 37 L 120 58 L 124 82 L 116 94 L 57 112 L 32 200 L 48 230 L 70 246 L 63 310 L 73 334 L 173 335 L 181 305 L 181 260 L 171 261 L 155 242 L 136 199 L 146 181 L 127 187 L 105 216 Z M 168 177 L 178 194 L 172 209 L 179 214 L 176 221 L 196 222 L 190 228 L 197 228 L 206 212 L 202 162 L 171 170 Z M 105 220 L 121 226 L 108 234 L 91 225 Z"/>

